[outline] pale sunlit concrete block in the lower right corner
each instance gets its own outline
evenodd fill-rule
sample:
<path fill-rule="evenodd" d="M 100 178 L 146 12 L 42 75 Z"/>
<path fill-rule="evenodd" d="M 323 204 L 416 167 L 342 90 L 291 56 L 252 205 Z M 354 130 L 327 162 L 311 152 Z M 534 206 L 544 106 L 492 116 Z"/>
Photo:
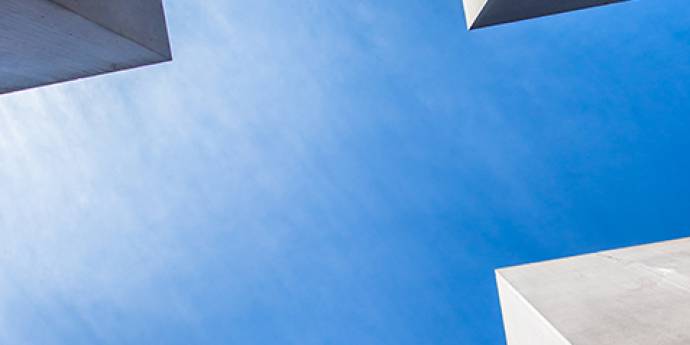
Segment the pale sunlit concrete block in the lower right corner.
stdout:
<path fill-rule="evenodd" d="M 508 345 L 690 344 L 690 239 L 496 271 Z"/>

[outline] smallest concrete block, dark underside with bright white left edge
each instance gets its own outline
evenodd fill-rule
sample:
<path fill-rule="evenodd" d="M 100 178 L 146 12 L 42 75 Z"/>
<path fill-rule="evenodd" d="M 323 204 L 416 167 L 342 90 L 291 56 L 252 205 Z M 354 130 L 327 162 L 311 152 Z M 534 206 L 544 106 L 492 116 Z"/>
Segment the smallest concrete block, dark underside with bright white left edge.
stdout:
<path fill-rule="evenodd" d="M 467 28 L 515 22 L 626 0 L 463 0 Z"/>

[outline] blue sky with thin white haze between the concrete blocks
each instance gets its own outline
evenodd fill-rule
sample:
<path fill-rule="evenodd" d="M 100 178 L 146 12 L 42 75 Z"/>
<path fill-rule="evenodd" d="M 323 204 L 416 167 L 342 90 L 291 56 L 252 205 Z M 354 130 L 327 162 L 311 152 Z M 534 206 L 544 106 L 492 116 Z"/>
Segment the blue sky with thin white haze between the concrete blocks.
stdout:
<path fill-rule="evenodd" d="M 690 7 L 168 1 L 0 97 L 0 343 L 503 344 L 493 269 L 690 234 Z"/>

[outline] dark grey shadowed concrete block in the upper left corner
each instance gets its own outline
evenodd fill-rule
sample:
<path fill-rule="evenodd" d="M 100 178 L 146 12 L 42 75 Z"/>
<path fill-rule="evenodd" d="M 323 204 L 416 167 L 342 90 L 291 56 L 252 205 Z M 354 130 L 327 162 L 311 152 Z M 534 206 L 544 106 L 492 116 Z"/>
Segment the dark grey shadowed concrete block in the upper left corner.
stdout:
<path fill-rule="evenodd" d="M 0 1 L 0 94 L 171 58 L 161 0 Z"/>

